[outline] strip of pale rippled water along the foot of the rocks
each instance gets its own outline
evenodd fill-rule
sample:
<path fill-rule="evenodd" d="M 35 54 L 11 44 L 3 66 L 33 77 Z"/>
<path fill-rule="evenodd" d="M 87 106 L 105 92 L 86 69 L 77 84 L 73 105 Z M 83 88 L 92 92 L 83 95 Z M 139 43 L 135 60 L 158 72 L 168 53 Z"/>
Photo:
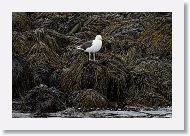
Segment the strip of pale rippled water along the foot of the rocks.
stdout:
<path fill-rule="evenodd" d="M 135 108 L 130 107 L 125 110 L 106 109 L 80 112 L 74 108 L 55 113 L 21 113 L 13 111 L 13 118 L 171 118 L 172 107 L 165 108 Z"/>

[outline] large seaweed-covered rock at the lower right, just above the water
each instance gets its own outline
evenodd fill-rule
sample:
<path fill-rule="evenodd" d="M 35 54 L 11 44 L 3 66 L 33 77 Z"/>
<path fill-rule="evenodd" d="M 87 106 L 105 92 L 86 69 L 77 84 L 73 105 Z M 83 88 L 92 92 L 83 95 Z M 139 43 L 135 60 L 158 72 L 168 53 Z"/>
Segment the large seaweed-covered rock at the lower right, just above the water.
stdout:
<path fill-rule="evenodd" d="M 171 64 L 144 59 L 131 70 L 127 105 L 167 106 L 172 103 Z"/>

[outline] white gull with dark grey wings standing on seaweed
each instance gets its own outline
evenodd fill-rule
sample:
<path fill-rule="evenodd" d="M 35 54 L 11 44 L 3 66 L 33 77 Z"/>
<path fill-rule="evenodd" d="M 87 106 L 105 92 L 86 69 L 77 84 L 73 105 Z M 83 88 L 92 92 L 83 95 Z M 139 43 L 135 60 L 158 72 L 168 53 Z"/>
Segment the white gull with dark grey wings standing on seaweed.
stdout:
<path fill-rule="evenodd" d="M 89 60 L 91 60 L 90 53 L 93 53 L 94 61 L 95 61 L 95 53 L 98 52 L 101 49 L 101 47 L 102 47 L 102 36 L 97 35 L 95 40 L 85 42 L 82 45 L 77 46 L 77 49 L 88 52 Z"/>

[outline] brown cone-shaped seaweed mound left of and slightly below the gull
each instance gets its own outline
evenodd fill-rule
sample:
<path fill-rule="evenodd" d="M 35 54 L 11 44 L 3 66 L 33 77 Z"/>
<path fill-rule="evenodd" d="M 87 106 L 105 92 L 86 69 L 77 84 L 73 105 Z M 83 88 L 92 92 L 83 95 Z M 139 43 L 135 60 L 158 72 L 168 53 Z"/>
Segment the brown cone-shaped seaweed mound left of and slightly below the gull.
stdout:
<path fill-rule="evenodd" d="M 27 56 L 35 85 L 49 84 L 51 73 L 62 67 L 61 57 L 43 42 L 33 45 Z"/>

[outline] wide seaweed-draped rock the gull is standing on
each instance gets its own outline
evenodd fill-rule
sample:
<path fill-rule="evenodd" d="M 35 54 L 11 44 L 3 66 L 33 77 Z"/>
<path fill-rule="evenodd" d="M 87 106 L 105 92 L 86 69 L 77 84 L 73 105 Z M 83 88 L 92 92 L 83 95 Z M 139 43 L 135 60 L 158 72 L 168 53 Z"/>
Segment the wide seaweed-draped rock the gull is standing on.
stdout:
<path fill-rule="evenodd" d="M 126 66 L 119 60 L 77 60 L 62 78 L 61 90 L 94 89 L 111 101 L 122 100 L 128 78 Z"/>

